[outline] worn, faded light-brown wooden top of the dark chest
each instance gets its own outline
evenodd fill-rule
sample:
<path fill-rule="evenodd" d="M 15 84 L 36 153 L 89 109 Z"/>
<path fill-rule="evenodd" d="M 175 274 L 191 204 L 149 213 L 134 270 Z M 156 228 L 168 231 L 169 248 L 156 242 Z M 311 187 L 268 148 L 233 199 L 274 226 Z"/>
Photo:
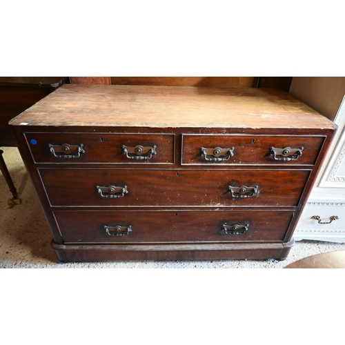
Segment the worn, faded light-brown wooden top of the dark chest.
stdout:
<path fill-rule="evenodd" d="M 22 112 L 10 124 L 336 128 L 326 117 L 277 89 L 69 84 Z"/>

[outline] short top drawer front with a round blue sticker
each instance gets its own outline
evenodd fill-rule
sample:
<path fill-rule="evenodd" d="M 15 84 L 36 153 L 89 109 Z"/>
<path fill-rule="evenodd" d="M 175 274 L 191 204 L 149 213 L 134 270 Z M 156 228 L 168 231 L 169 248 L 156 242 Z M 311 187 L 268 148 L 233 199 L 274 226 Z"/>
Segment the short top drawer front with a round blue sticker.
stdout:
<path fill-rule="evenodd" d="M 173 134 L 26 132 L 25 135 L 36 163 L 175 163 Z"/>

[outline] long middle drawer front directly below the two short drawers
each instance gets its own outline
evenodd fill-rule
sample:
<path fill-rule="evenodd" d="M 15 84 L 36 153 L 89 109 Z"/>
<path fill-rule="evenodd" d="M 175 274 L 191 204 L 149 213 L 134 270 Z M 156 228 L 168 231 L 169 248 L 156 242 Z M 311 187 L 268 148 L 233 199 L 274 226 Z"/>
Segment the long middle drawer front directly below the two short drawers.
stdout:
<path fill-rule="evenodd" d="M 297 206 L 310 173 L 81 168 L 39 172 L 52 206 Z"/>

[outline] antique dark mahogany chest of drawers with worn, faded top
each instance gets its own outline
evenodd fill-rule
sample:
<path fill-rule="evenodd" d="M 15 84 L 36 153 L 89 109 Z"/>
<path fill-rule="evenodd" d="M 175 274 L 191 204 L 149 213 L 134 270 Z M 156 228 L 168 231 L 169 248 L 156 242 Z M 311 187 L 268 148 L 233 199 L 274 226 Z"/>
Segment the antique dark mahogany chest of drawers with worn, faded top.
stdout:
<path fill-rule="evenodd" d="M 12 119 L 59 260 L 285 259 L 336 126 L 287 92 L 65 85 Z"/>

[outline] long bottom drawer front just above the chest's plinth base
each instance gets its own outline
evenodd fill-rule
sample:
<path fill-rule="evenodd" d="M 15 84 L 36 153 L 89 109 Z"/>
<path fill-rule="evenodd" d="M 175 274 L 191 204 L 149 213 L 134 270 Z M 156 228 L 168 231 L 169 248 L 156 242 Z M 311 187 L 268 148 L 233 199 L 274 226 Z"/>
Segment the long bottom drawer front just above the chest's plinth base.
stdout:
<path fill-rule="evenodd" d="M 57 210 L 65 243 L 283 241 L 292 211 Z"/>

